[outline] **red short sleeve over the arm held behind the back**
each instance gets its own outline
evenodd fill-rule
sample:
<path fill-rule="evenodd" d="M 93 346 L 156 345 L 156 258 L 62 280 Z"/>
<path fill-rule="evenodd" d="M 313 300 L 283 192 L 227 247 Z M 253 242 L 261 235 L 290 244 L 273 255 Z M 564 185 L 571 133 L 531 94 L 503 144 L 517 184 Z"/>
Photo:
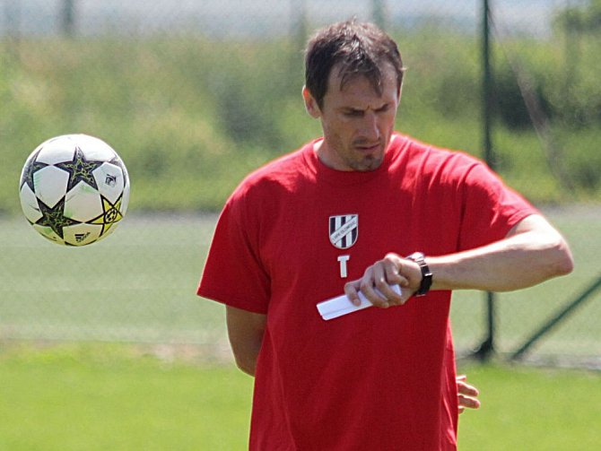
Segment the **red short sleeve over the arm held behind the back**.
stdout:
<path fill-rule="evenodd" d="M 257 224 L 246 214 L 245 197 L 233 195 L 217 221 L 196 293 L 235 308 L 266 313 L 269 277 L 257 252 Z"/>

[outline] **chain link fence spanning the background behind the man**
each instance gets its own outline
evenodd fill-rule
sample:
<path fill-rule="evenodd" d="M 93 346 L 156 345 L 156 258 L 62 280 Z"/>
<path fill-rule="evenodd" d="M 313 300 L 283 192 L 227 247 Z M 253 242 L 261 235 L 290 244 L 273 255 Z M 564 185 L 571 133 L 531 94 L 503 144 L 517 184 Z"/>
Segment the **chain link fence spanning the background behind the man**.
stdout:
<path fill-rule="evenodd" d="M 393 35 L 407 75 L 397 128 L 483 158 L 483 9 L 475 0 L 2 0 L 0 339 L 191 343 L 228 355 L 222 307 L 196 299 L 216 214 L 248 171 L 320 133 L 300 98 L 310 32 L 357 16 Z M 571 241 L 571 276 L 497 295 L 494 344 L 517 351 L 601 277 L 601 4 L 490 2 L 491 164 Z M 22 164 L 86 133 L 132 180 L 130 212 L 63 248 L 19 211 Z M 596 290 L 525 354 L 601 361 Z M 457 349 L 489 334 L 483 293 L 457 292 Z"/>

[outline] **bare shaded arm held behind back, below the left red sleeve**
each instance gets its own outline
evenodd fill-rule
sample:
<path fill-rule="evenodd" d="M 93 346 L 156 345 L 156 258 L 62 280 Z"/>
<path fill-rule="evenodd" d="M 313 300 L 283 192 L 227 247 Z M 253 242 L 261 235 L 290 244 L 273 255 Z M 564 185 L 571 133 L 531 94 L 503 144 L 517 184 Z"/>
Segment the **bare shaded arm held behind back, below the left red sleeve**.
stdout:
<path fill-rule="evenodd" d="M 242 371 L 254 376 L 267 316 L 231 306 L 226 306 L 225 315 L 236 363 Z"/>

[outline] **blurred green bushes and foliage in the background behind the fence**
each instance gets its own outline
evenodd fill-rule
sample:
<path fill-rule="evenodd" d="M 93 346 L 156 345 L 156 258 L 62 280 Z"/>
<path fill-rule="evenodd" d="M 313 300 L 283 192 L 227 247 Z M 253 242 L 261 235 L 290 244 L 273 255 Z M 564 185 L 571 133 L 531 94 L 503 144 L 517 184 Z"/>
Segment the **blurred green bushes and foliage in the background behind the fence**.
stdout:
<path fill-rule="evenodd" d="M 554 13 L 544 39 L 496 31 L 496 169 L 537 204 L 599 200 L 597 4 Z M 436 16 L 389 28 L 408 67 L 398 128 L 481 156 L 477 33 Z M 118 150 L 132 210 L 219 210 L 249 170 L 319 134 L 300 99 L 300 38 L 4 36 L 0 211 L 18 211 L 13 186 L 29 152 L 74 132 Z"/>

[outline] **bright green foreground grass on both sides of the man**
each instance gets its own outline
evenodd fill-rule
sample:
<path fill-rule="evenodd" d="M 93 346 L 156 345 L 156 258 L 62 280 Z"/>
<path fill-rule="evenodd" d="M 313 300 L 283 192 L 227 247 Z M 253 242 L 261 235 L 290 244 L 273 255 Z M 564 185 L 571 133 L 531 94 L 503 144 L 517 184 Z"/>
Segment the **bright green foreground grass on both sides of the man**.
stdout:
<path fill-rule="evenodd" d="M 252 379 L 231 364 L 125 344 L 2 349 L 0 449 L 246 449 Z M 460 417 L 462 451 L 601 447 L 601 374 L 462 370 L 483 402 L 479 412 Z"/>

